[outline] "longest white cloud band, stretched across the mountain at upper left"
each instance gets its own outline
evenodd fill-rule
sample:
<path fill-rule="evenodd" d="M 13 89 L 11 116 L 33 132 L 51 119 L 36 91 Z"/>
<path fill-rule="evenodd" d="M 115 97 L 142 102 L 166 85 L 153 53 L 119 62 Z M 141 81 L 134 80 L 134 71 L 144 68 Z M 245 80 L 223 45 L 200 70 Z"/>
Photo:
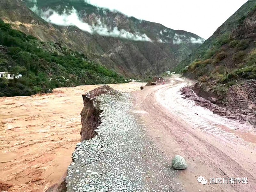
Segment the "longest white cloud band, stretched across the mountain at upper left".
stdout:
<path fill-rule="evenodd" d="M 76 10 L 73 8 L 73 10 L 70 13 L 63 12 L 62 14 L 57 13 L 54 10 L 47 10 L 45 12 L 38 11 L 36 6 L 31 8 L 34 12 L 39 12 L 41 17 L 46 20 L 47 22 L 60 25 L 60 26 L 76 26 L 82 31 L 86 31 L 90 34 L 98 34 L 101 36 L 110 36 L 110 37 L 119 37 L 119 38 L 125 38 L 132 41 L 149 41 L 151 42 L 151 39 L 146 34 L 140 34 L 140 33 L 130 33 L 124 29 L 118 30 L 117 27 L 110 29 L 107 26 L 103 25 L 100 20 L 98 20 L 97 25 L 89 25 L 88 23 L 85 23 L 84 21 L 80 20 L 80 18 L 77 15 Z"/>

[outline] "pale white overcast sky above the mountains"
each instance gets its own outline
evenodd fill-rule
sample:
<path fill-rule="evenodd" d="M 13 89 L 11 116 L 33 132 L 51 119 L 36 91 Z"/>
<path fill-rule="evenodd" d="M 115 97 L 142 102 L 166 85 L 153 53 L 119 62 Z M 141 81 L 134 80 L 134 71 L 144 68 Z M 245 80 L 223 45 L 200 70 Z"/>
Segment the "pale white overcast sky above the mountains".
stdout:
<path fill-rule="evenodd" d="M 85 0 L 207 39 L 247 0 Z"/>

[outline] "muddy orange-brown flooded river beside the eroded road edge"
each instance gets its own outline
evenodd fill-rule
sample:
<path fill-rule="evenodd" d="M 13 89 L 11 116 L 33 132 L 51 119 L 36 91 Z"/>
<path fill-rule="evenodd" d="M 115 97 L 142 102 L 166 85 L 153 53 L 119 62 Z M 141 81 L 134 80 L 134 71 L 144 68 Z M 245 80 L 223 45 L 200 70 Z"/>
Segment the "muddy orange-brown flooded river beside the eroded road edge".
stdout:
<path fill-rule="evenodd" d="M 143 83 L 111 84 L 121 92 Z M 40 192 L 58 182 L 81 139 L 82 94 L 101 85 L 0 98 L 0 191 Z"/>

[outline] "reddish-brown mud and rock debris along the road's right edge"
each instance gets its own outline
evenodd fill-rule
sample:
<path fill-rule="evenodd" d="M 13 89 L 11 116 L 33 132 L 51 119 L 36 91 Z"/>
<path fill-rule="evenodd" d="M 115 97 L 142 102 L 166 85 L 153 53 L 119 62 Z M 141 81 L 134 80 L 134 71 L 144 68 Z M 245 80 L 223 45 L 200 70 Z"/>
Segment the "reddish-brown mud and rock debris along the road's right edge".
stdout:
<path fill-rule="evenodd" d="M 232 86 L 225 96 L 214 95 L 202 84 L 183 87 L 181 94 L 184 98 L 194 100 L 196 105 L 205 107 L 221 116 L 247 121 L 256 126 L 256 81 L 242 81 Z"/>

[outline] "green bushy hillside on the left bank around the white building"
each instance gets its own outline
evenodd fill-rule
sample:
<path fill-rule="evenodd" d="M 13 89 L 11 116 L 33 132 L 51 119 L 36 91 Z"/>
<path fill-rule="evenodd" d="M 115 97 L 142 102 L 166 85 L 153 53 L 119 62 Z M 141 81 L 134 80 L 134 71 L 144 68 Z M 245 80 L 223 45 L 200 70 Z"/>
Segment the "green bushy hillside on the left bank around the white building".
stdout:
<path fill-rule="evenodd" d="M 124 83 L 116 72 L 73 52 L 61 43 L 40 42 L 0 20 L 0 72 L 22 74 L 21 79 L 0 78 L 0 96 L 27 96 L 57 87 Z M 45 47 L 56 50 L 50 52 Z"/>

